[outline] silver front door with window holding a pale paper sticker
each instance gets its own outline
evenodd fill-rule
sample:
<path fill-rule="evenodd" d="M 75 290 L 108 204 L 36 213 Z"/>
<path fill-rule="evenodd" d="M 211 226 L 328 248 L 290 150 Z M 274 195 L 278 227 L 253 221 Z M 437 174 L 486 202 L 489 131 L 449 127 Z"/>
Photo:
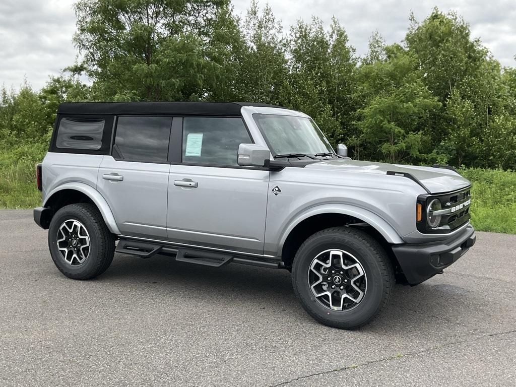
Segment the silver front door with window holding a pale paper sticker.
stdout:
<path fill-rule="evenodd" d="M 243 120 L 174 120 L 181 159 L 170 168 L 169 240 L 263 254 L 269 171 L 238 166 L 238 145 L 252 142 Z"/>

